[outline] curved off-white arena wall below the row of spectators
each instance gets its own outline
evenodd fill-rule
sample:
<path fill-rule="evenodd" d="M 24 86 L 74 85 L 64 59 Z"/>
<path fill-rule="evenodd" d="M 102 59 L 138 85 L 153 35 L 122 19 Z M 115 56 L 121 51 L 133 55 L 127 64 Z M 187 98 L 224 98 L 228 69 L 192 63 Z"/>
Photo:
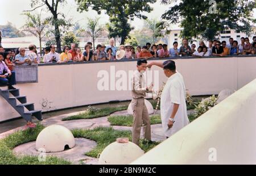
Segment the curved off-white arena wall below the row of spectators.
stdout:
<path fill-rule="evenodd" d="M 256 78 L 256 57 L 193 58 L 175 62 L 191 95 L 218 94 L 223 89 L 238 90 Z M 130 91 L 98 90 L 97 83 L 101 78 L 97 78 L 97 74 L 100 70 L 110 72 L 110 66 L 115 66 L 116 72 L 128 72 L 135 70 L 136 65 L 136 61 L 129 61 L 39 66 L 38 83 L 23 83 L 16 87 L 20 89 L 20 95 L 27 95 L 28 102 L 35 103 L 35 108 L 44 112 L 129 100 Z M 167 80 L 163 70 L 156 67 L 152 70 L 159 70 L 162 86 Z M 0 97 L 0 121 L 15 117 L 18 114 Z"/>

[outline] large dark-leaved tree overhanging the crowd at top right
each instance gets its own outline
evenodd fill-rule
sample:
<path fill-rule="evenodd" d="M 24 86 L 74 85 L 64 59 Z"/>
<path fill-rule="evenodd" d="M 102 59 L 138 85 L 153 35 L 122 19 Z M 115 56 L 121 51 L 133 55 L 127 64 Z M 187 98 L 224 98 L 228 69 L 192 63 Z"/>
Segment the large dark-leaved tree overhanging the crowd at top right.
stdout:
<path fill-rule="evenodd" d="M 162 0 L 162 3 L 174 1 Z M 209 5 L 208 0 L 183 0 L 162 15 L 162 27 L 180 23 L 184 30 L 182 37 L 191 39 L 198 35 L 205 39 L 214 39 L 220 31 L 226 28 L 250 33 L 251 23 L 255 23 L 253 9 L 255 0 L 216 0 L 216 4 Z M 216 9 L 214 9 L 214 6 Z"/>

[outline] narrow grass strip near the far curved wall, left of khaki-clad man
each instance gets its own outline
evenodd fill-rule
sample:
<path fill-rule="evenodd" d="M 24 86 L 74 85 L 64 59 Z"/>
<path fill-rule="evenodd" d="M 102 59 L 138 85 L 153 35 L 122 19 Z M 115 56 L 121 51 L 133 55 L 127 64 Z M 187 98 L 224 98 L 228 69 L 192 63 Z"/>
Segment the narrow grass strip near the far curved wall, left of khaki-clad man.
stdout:
<path fill-rule="evenodd" d="M 63 121 L 66 120 L 78 120 L 78 119 L 94 119 L 94 118 L 102 118 L 104 116 L 109 116 L 114 112 L 127 110 L 127 106 L 122 107 L 106 107 L 97 110 L 96 112 L 84 112 L 79 115 L 73 115 L 68 118 L 63 118 Z"/>

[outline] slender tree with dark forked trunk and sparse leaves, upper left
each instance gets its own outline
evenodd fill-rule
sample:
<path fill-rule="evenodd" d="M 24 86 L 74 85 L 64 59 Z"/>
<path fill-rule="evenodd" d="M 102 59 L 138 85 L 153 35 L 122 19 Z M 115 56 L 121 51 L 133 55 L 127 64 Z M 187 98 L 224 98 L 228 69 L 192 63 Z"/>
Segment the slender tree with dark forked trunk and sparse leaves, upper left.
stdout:
<path fill-rule="evenodd" d="M 51 12 L 51 24 L 54 26 L 52 30 L 53 35 L 55 36 L 56 44 L 57 44 L 57 52 L 61 52 L 61 27 L 64 28 L 63 31 L 67 31 L 67 29 L 71 26 L 70 20 L 65 19 L 65 15 L 58 12 L 59 5 L 61 3 L 67 3 L 66 0 L 31 0 L 31 7 L 38 9 L 40 7 L 46 6 L 47 10 Z"/>

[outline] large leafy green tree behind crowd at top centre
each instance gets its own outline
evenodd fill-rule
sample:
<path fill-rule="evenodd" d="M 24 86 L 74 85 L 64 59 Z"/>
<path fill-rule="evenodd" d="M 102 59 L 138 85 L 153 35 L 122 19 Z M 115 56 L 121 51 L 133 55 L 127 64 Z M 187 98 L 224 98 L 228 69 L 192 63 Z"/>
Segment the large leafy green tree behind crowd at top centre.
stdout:
<path fill-rule="evenodd" d="M 88 11 L 91 7 L 98 14 L 104 10 L 109 15 L 110 25 L 108 26 L 110 37 L 121 37 L 121 44 L 125 44 L 126 38 L 129 36 L 133 27 L 129 24 L 129 20 L 135 17 L 146 19 L 147 16 L 142 12 L 151 12 L 152 7 L 148 3 L 155 3 L 156 0 L 76 0 L 80 11 Z"/>

